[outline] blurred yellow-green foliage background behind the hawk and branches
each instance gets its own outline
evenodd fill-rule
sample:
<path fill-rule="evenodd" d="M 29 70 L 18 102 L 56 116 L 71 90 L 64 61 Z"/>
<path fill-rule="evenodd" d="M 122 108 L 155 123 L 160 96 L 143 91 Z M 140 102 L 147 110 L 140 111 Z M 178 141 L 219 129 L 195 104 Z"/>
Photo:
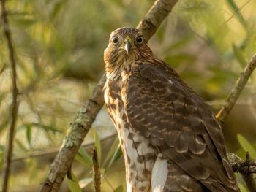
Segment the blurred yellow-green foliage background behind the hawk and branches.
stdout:
<path fill-rule="evenodd" d="M 104 73 L 111 31 L 136 27 L 153 0 L 7 1 L 18 62 L 19 110 L 10 191 L 39 191 L 62 140 Z M 256 1 L 180 0 L 148 42 L 215 112 L 256 53 Z M 0 168 L 12 97 L 7 42 L 0 26 Z M 229 152 L 256 158 L 256 73 L 223 127 Z M 125 189 L 124 159 L 105 107 L 61 191 L 93 191 L 91 147 L 97 143 L 102 191 Z M 238 176 L 241 191 L 246 191 Z"/>

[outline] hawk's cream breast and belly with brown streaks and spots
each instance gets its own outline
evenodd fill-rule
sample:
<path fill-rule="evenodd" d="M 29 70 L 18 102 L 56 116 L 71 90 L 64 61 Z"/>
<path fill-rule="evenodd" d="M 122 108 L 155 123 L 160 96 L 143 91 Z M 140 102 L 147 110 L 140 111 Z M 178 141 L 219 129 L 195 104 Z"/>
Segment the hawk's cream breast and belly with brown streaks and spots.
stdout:
<path fill-rule="evenodd" d="M 118 86 L 120 82 L 111 85 L 107 80 L 106 83 L 105 103 L 124 154 L 127 191 L 150 191 L 151 173 L 157 158 L 156 150 L 147 138 L 130 126 L 121 101 L 121 88 Z"/>

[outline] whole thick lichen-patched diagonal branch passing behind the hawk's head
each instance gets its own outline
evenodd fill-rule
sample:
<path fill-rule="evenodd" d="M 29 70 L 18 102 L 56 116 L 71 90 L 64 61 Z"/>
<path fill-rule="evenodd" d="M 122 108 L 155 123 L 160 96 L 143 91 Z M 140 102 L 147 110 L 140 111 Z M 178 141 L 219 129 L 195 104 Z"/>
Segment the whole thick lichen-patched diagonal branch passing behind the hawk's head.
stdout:
<path fill-rule="evenodd" d="M 167 17 L 177 1 L 178 0 L 157 0 L 151 7 L 146 17 L 143 18 L 138 25 L 138 28 L 140 28 L 146 36 L 146 40 L 150 39 L 155 31 L 157 31 L 162 20 Z M 78 110 L 78 115 L 73 123 L 71 123 L 69 133 L 64 139 L 61 150 L 50 167 L 50 172 L 41 191 L 58 191 L 94 118 L 104 104 L 102 93 L 104 85 L 105 74 L 94 88 L 92 96 L 86 101 L 85 106 L 81 110 Z"/>

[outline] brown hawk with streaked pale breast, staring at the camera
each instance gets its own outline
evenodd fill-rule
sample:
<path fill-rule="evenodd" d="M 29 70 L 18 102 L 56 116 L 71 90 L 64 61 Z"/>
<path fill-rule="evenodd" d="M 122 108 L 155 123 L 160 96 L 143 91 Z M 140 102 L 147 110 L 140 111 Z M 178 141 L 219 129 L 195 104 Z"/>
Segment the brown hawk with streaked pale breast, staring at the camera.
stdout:
<path fill-rule="evenodd" d="M 154 57 L 141 31 L 113 31 L 104 61 L 127 192 L 239 191 L 211 108 Z"/>

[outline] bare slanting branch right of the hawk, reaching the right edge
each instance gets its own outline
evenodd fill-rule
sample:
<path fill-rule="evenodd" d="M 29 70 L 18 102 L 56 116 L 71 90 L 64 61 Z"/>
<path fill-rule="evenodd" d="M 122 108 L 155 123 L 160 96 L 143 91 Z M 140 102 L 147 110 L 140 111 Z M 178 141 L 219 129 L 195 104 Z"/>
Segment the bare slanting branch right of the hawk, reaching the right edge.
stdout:
<path fill-rule="evenodd" d="M 249 77 L 251 76 L 255 67 L 256 67 L 256 55 L 254 55 L 251 61 L 249 61 L 249 64 L 246 65 L 246 67 L 244 68 L 244 72 L 241 73 L 231 93 L 227 96 L 225 103 L 222 105 L 222 108 L 219 110 L 217 114 L 217 119 L 219 120 L 219 123 L 221 125 L 225 122 L 227 116 L 230 114 L 230 111 L 233 109 L 234 105 L 236 104 L 236 101 L 240 96 L 241 91 L 243 91 L 244 86 L 249 80 Z"/>

